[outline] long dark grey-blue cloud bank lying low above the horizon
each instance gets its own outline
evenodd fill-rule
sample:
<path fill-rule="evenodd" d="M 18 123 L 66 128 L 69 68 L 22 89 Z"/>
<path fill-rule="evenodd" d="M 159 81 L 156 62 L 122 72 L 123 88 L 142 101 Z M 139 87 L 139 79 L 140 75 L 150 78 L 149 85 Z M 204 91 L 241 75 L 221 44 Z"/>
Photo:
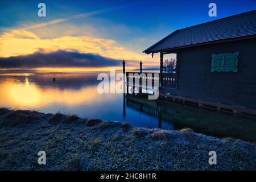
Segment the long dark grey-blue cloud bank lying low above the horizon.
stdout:
<path fill-rule="evenodd" d="M 2 57 L 0 68 L 102 68 L 121 67 L 121 60 L 114 60 L 92 53 L 56 51 L 51 53 L 36 52 L 26 56 Z"/>

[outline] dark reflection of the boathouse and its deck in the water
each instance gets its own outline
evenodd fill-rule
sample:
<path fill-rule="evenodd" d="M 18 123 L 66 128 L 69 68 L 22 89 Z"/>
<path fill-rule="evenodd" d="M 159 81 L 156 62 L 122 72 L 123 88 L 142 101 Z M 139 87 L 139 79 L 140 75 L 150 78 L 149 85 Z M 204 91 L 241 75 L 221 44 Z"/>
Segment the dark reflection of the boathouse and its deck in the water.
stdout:
<path fill-rule="evenodd" d="M 256 121 L 228 113 L 199 109 L 195 106 L 177 104 L 171 101 L 152 101 L 146 98 L 127 95 L 127 107 L 139 110 L 158 118 L 162 122 L 174 124 L 174 130 L 192 128 L 198 133 L 216 137 L 233 137 L 256 140 Z"/>

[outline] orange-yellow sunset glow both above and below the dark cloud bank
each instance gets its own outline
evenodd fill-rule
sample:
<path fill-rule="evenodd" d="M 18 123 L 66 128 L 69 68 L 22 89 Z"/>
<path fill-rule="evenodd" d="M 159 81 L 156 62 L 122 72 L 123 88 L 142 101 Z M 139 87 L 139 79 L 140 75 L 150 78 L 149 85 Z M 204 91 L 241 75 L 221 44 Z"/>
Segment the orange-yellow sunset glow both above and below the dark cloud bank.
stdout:
<path fill-rule="evenodd" d="M 123 47 L 118 42 L 112 39 L 97 38 L 93 35 L 63 35 L 55 36 L 53 38 L 45 38 L 39 36 L 33 31 L 28 30 L 10 30 L 3 32 L 0 35 L 0 57 L 15 57 L 32 55 L 35 52 L 51 53 L 58 50 L 75 51 L 79 53 L 90 53 L 94 55 L 100 55 L 102 57 L 108 57 L 113 60 L 148 60 L 147 66 L 158 65 L 158 59 L 152 59 L 151 55 L 144 55 L 135 51 Z M 36 60 L 35 60 L 36 61 Z M 138 62 L 139 63 L 139 62 Z M 104 68 L 94 67 L 79 67 L 76 65 L 70 65 L 69 67 L 36 67 L 35 71 L 51 71 L 51 72 L 102 72 L 109 71 L 109 69 L 119 70 L 120 67 L 106 66 Z M 131 63 L 127 65 L 127 69 L 136 69 L 137 64 Z M 19 68 L 13 68 L 19 69 Z M 23 68 L 24 69 L 24 68 Z M 29 68 L 28 68 L 29 69 Z M 6 68 L 0 68 L 0 70 L 6 70 Z"/>

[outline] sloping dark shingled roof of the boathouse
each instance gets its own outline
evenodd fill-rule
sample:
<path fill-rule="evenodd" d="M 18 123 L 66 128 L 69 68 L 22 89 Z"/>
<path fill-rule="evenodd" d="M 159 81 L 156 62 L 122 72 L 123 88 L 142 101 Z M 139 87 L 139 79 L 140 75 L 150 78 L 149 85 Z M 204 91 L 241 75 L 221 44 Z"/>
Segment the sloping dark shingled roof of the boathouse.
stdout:
<path fill-rule="evenodd" d="M 256 35 L 256 10 L 176 30 L 145 53 Z"/>

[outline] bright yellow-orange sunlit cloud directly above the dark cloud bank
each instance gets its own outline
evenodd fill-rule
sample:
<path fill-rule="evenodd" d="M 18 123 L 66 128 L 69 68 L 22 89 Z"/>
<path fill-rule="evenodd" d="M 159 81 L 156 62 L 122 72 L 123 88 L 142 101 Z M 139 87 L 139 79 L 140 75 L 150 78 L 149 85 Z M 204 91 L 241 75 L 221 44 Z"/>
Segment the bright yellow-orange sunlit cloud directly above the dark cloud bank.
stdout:
<path fill-rule="evenodd" d="M 0 57 L 28 55 L 38 51 L 54 52 L 59 49 L 121 60 L 143 60 L 146 57 L 143 53 L 120 46 L 115 40 L 89 35 L 41 38 L 26 30 L 11 30 L 0 35 Z"/>

